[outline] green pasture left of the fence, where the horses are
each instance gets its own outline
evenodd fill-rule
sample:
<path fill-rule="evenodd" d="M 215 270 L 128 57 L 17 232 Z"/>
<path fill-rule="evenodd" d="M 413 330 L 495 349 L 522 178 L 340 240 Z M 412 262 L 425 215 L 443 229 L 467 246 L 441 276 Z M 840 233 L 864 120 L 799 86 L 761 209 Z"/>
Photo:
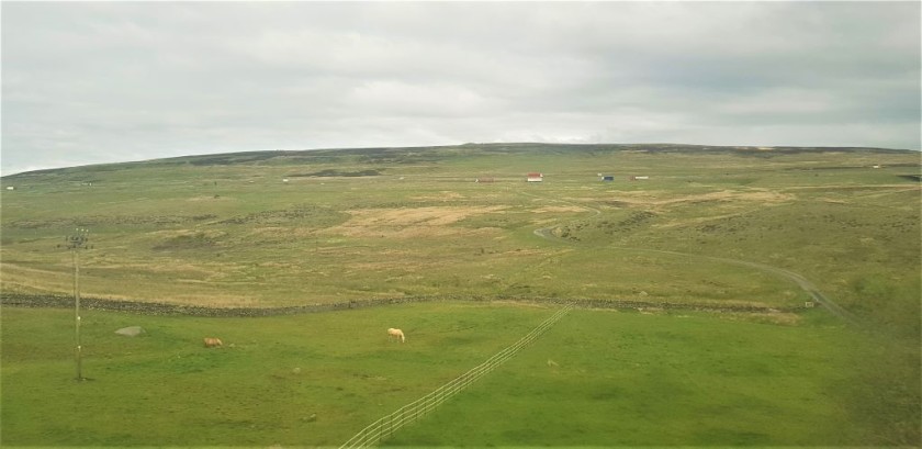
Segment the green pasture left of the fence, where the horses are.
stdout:
<path fill-rule="evenodd" d="M 270 318 L 4 308 L 10 446 L 338 446 L 454 379 L 553 313 L 432 303 Z M 142 336 L 114 330 L 138 325 Z M 401 326 L 407 343 L 389 341 Z M 206 349 L 204 336 L 225 346 Z M 232 346 L 233 345 L 233 346 Z"/>

